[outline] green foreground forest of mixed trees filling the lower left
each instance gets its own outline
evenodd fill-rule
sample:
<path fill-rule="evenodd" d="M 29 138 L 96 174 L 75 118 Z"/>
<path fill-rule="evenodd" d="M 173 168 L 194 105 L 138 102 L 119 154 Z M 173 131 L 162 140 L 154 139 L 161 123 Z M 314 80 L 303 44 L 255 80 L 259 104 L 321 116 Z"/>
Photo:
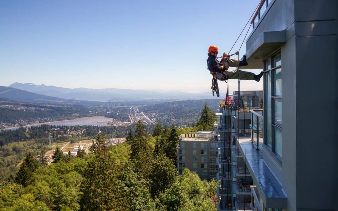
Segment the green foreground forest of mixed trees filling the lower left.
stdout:
<path fill-rule="evenodd" d="M 217 210 L 217 180 L 202 181 L 187 168 L 177 175 L 174 126 L 158 124 L 152 135 L 141 121 L 134 128 L 113 147 L 100 133 L 88 155 L 56 149 L 50 165 L 28 153 L 17 174 L 0 182 L 0 209 Z"/>

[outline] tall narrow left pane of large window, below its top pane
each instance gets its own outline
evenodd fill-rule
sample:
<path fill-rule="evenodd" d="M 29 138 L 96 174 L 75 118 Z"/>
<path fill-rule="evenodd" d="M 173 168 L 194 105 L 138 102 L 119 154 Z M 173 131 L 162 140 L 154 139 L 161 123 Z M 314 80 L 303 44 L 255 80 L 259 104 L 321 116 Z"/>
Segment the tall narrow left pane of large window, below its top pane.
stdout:
<path fill-rule="evenodd" d="M 271 147 L 271 72 L 265 73 L 266 87 L 265 87 L 265 98 L 266 98 L 266 144 Z"/>

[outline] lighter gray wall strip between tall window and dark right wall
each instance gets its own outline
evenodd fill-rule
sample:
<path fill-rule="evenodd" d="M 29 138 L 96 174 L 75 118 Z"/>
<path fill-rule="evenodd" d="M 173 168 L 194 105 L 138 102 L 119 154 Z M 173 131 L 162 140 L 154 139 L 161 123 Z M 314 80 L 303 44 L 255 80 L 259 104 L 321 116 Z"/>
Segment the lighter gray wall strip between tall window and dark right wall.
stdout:
<path fill-rule="evenodd" d="M 296 208 L 296 36 L 282 47 L 282 173 L 288 210 Z M 310 116 L 310 115 L 308 115 Z M 271 165 L 270 165 L 271 166 Z"/>

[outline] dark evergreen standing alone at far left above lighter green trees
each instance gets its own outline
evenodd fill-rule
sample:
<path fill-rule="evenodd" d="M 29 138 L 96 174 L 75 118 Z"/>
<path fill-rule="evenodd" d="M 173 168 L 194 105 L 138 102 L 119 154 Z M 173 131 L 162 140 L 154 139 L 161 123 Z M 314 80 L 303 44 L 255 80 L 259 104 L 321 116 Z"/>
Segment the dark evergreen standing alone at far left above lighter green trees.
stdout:
<path fill-rule="evenodd" d="M 23 187 L 28 185 L 28 181 L 32 177 L 33 172 L 38 168 L 38 162 L 35 158 L 32 157 L 30 152 L 23 160 L 22 164 L 20 165 L 19 172 L 15 178 L 15 181 L 21 184 Z"/>

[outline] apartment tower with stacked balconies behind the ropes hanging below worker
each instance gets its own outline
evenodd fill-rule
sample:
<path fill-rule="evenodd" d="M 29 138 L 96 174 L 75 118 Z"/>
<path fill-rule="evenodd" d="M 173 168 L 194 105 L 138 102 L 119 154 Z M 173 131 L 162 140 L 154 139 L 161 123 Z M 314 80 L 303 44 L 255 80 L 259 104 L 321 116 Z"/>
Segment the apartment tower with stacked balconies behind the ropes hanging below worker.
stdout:
<path fill-rule="evenodd" d="M 237 98 L 241 101 L 236 100 Z M 250 140 L 250 109 L 262 109 L 263 91 L 234 91 L 233 104 L 220 104 L 219 130 L 219 195 L 218 210 L 249 210 L 252 179 L 244 166 L 241 152 L 236 146 L 236 138 L 242 137 Z M 243 103 L 238 103 L 242 102 Z M 243 107 L 243 104 L 245 105 Z M 246 107 L 248 106 L 248 107 Z M 224 126 L 224 127 L 223 127 Z M 217 129 L 216 129 L 217 130 Z M 230 141 L 229 141 L 230 140 Z M 224 146 L 224 147 L 223 147 Z M 223 162 L 221 162 L 223 161 Z"/>

